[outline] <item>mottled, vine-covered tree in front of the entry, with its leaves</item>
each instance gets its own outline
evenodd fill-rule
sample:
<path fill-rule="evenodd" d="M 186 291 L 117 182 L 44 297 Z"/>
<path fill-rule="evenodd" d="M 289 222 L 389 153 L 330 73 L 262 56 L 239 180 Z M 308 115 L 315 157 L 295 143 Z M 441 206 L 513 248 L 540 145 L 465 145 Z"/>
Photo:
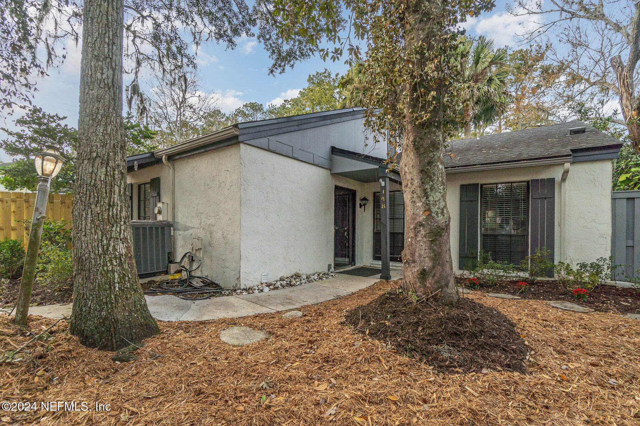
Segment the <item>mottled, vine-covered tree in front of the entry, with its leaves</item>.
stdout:
<path fill-rule="evenodd" d="M 461 40 L 458 24 L 490 10 L 492 2 L 437 0 L 340 0 L 310 6 L 278 0 L 280 31 L 324 34 L 335 43 L 323 57 L 364 59 L 360 44 L 346 38 L 334 20 L 346 15 L 349 31 L 364 40 L 367 58 L 358 68 L 367 89 L 358 96 L 367 107 L 365 123 L 388 142 L 388 167 L 399 172 L 404 194 L 403 288 L 419 298 L 456 303 L 449 238 L 444 155 L 448 137 L 463 125 L 460 110 Z M 300 29 L 302 26 L 302 30 Z M 374 136 L 375 137 L 375 136 Z"/>

